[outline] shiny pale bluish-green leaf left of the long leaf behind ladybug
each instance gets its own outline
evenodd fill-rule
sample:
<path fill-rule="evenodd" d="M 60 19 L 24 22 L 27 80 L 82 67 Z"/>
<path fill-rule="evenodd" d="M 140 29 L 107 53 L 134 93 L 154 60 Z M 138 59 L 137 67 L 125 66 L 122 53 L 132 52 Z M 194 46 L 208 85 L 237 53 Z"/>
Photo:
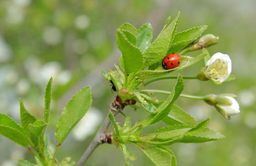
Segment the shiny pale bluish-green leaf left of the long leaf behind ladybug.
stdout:
<path fill-rule="evenodd" d="M 146 49 L 151 43 L 153 29 L 151 24 L 146 23 L 136 33 L 137 44 L 136 46 L 142 53 L 145 53 Z"/>

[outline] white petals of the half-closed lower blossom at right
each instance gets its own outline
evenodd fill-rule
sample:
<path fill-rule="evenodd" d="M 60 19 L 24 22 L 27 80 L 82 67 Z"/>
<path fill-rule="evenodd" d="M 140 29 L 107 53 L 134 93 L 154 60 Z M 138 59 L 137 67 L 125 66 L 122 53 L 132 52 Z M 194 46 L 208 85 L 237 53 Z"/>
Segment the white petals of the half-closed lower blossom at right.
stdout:
<path fill-rule="evenodd" d="M 240 112 L 240 110 L 239 110 L 239 104 L 236 101 L 236 99 L 229 97 L 229 96 L 227 96 L 226 98 L 229 99 L 232 102 L 232 104 L 231 105 L 219 105 L 219 107 L 226 112 L 228 117 L 238 114 Z"/>

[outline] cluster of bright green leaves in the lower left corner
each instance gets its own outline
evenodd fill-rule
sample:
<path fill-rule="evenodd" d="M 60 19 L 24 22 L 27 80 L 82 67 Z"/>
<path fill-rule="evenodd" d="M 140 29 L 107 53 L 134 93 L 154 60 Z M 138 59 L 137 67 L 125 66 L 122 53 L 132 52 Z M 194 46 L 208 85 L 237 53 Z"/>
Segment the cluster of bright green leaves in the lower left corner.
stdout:
<path fill-rule="evenodd" d="M 90 90 L 90 87 L 85 87 L 77 92 L 63 109 L 55 131 L 58 145 L 54 154 L 49 149 L 50 140 L 45 134 L 51 104 L 52 78 L 45 89 L 44 119 L 39 120 L 30 114 L 20 99 L 21 127 L 7 114 L 0 114 L 0 134 L 33 153 L 38 166 L 74 166 L 75 162 L 70 162 L 70 157 L 64 158 L 58 163 L 55 160 L 55 155 L 68 133 L 90 108 L 92 102 Z M 19 165 L 34 166 L 34 164 L 23 159 L 19 160 Z"/>

